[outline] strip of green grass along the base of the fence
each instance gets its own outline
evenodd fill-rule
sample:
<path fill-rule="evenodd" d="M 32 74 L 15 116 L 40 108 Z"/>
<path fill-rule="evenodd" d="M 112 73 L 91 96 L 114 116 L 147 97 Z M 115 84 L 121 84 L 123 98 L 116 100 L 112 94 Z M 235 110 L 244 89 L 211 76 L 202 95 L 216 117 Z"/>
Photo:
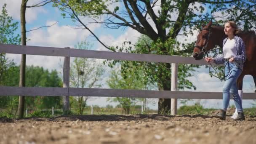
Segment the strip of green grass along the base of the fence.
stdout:
<path fill-rule="evenodd" d="M 211 115 L 211 113 L 216 109 L 205 109 L 202 105 L 195 104 L 192 106 L 181 106 L 178 109 L 177 115 Z M 147 109 L 143 114 L 155 114 L 157 110 Z M 245 108 L 245 115 L 256 116 L 256 107 Z M 141 114 L 141 108 L 131 107 L 130 114 Z M 170 111 L 163 111 L 161 113 L 163 115 L 170 115 Z M 36 111 L 28 111 L 27 117 L 57 117 L 62 115 L 62 109 L 55 109 L 54 115 L 52 115 L 51 109 L 49 110 L 36 110 Z M 71 109 L 70 115 L 79 115 L 76 109 Z M 91 115 L 91 107 L 85 107 L 83 111 L 83 115 Z M 93 115 L 125 115 L 125 112 L 122 108 L 113 108 L 113 107 L 93 107 Z M 16 118 L 14 115 L 10 115 L 8 112 L 5 112 L 4 109 L 0 109 L 0 118 Z M 24 113 L 24 117 L 25 113 Z"/>

